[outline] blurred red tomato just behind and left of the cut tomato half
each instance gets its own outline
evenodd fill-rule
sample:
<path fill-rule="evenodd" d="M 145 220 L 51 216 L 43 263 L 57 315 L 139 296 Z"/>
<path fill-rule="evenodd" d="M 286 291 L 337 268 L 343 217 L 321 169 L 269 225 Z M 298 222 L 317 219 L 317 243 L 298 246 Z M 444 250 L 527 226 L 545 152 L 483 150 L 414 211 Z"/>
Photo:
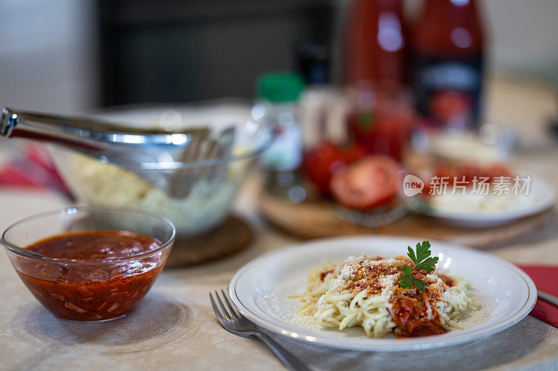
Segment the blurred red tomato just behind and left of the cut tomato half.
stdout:
<path fill-rule="evenodd" d="M 364 155 L 364 150 L 354 145 L 341 147 L 331 142 L 323 142 L 308 152 L 304 159 L 304 171 L 323 196 L 331 196 L 329 182 L 336 172 L 345 168 Z"/>

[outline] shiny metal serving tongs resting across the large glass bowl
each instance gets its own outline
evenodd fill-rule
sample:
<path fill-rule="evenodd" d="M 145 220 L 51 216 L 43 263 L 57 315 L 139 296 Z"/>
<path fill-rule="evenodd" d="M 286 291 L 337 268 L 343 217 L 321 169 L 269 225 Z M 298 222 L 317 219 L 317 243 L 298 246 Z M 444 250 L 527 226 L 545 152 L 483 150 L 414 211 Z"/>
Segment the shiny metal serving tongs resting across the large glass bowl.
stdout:
<path fill-rule="evenodd" d="M 231 155 L 234 128 L 227 128 L 220 134 L 212 133 L 216 139 L 211 141 L 209 134 L 206 127 L 192 127 L 181 132 L 135 129 L 89 118 L 10 108 L 3 108 L 0 115 L 0 136 L 55 143 L 121 166 L 163 189 L 172 198 L 186 197 L 195 182 L 193 178 L 199 169 L 188 168 L 188 162 L 199 165 L 200 161 L 208 160 L 206 173 L 218 175 L 218 159 Z M 205 147 L 210 149 L 203 150 Z"/>

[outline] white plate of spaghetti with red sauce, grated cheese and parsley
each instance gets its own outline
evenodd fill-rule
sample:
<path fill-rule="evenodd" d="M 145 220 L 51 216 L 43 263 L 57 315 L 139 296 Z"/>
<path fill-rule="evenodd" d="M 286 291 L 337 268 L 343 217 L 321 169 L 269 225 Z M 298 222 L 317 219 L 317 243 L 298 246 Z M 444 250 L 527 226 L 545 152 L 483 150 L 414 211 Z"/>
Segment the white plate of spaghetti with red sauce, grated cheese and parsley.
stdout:
<path fill-rule="evenodd" d="M 536 287 L 511 263 L 455 244 L 340 237 L 252 260 L 232 278 L 229 295 L 243 315 L 275 333 L 398 351 L 503 331 L 529 314 Z"/>

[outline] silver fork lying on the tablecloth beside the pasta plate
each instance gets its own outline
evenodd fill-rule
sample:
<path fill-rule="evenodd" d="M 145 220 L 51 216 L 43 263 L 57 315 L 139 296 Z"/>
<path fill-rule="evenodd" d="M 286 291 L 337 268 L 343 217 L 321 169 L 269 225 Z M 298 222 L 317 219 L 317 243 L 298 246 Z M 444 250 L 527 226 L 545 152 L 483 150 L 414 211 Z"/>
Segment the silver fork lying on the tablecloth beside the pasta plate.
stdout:
<path fill-rule="evenodd" d="M 266 343 L 269 349 L 273 351 L 277 358 L 279 358 L 279 361 L 281 361 L 281 363 L 289 370 L 310 371 L 310 368 L 299 360 L 299 358 L 296 358 L 296 356 L 294 356 L 291 352 L 279 345 L 278 342 L 260 331 L 257 326 L 250 321 L 250 319 L 241 315 L 238 310 L 234 310 L 229 301 L 228 295 L 225 294 L 223 290 L 221 290 L 221 293 L 223 294 L 223 301 L 227 303 L 227 308 L 229 308 L 228 312 L 217 291 L 215 292 L 215 296 L 219 302 L 221 310 L 223 310 L 223 313 L 219 310 L 211 292 L 209 293 L 209 299 L 211 300 L 211 306 L 213 306 L 213 311 L 215 312 L 217 319 L 225 330 L 229 331 L 229 333 L 234 333 L 234 335 L 242 337 L 256 336 L 257 338 L 260 338 Z"/>

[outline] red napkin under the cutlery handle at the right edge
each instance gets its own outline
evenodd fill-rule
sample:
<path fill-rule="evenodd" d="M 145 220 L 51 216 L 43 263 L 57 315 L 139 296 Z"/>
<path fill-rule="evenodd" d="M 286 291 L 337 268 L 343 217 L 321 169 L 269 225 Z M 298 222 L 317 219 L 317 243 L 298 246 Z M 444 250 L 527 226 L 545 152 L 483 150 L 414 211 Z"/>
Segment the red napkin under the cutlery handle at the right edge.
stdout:
<path fill-rule="evenodd" d="M 545 265 L 518 265 L 531 277 L 538 290 L 558 297 L 558 267 Z M 558 328 L 558 306 L 538 299 L 530 315 Z"/>

